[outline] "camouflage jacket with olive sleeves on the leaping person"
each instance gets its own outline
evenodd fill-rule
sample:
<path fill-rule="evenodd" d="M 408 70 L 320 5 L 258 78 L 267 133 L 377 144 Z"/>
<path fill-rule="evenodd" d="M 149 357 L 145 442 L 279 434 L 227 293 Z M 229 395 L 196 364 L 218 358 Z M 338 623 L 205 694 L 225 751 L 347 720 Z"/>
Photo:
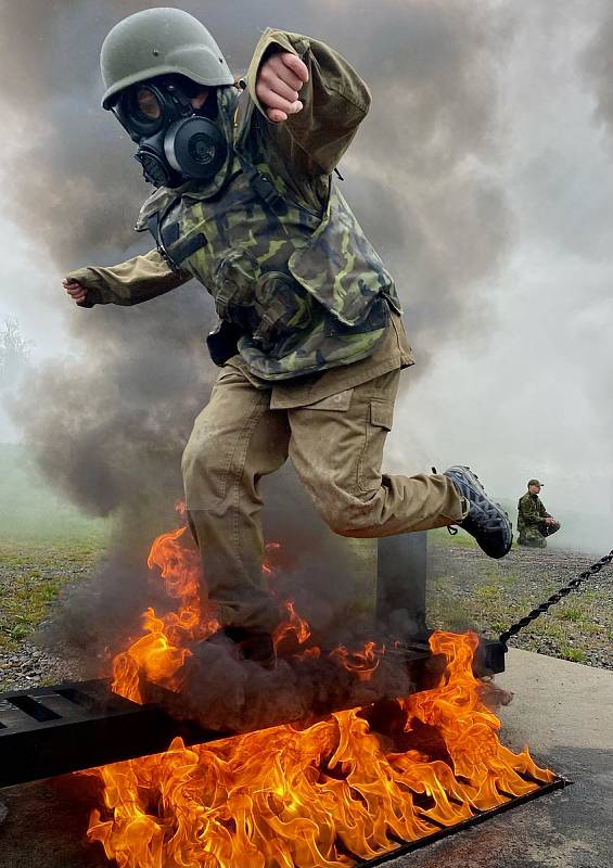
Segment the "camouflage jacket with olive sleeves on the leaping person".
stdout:
<path fill-rule="evenodd" d="M 292 51 L 309 69 L 301 91 L 305 107 L 283 124 L 267 120 L 255 94 L 270 50 Z M 368 111 L 368 90 L 323 43 L 274 30 L 260 39 L 246 87 L 240 98 L 233 88 L 218 91 L 220 123 L 234 148 L 216 178 L 163 188 L 141 210 L 137 228 L 156 227 L 174 269 L 152 252 L 71 277 L 94 303 L 118 304 L 146 301 L 195 277 L 221 320 L 237 328 L 247 369 L 265 381 L 365 359 L 385 335 L 389 307 L 401 312 L 391 276 L 332 178 Z M 270 201 L 250 171 L 266 179 Z"/>

